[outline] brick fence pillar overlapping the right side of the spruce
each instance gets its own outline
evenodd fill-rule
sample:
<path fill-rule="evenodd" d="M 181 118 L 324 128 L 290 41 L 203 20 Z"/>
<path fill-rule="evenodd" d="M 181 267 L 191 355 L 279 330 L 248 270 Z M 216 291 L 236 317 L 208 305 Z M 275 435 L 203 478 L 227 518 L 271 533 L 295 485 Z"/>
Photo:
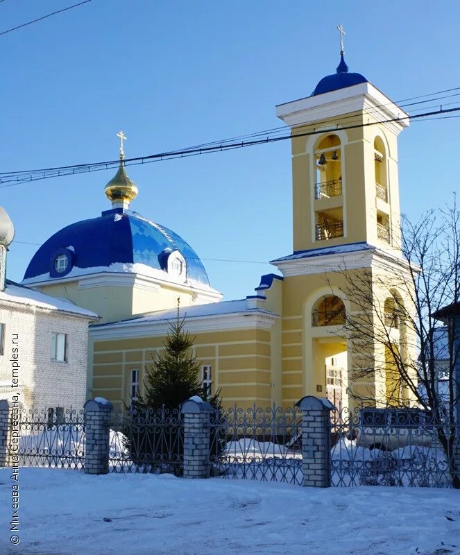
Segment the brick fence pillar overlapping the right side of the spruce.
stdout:
<path fill-rule="evenodd" d="M 210 403 L 192 397 L 182 404 L 184 415 L 184 478 L 210 477 Z"/>

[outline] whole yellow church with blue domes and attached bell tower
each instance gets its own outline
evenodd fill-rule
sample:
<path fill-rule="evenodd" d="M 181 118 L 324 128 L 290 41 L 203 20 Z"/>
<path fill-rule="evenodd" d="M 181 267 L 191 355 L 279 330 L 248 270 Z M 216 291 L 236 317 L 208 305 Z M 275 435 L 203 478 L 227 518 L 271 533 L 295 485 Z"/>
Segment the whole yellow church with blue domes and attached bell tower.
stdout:
<path fill-rule="evenodd" d="M 409 119 L 349 71 L 343 47 L 336 73 L 276 113 L 291 130 L 293 245 L 271 261 L 278 272 L 263 275 L 254 294 L 221 301 L 191 246 L 130 209 L 138 188 L 126 174 L 122 133 L 119 169 L 105 187 L 112 207 L 58 231 L 31 259 L 23 284 L 101 317 L 89 332 L 88 397 L 120 405 L 142 393 L 180 298 L 203 384 L 220 389 L 226 406 L 287 406 L 304 395 L 327 396 L 337 407 L 357 404 L 359 395 L 377 405 L 388 400 L 385 372 L 364 379 L 352 371 L 354 344 L 341 330 L 357 307 L 339 269 L 407 271 L 399 246 L 398 135 Z M 389 291 L 373 293 L 382 307 L 391 301 Z M 409 333 L 397 318 L 389 325 L 395 343 Z M 381 348 L 369 351 L 370 365 Z"/>

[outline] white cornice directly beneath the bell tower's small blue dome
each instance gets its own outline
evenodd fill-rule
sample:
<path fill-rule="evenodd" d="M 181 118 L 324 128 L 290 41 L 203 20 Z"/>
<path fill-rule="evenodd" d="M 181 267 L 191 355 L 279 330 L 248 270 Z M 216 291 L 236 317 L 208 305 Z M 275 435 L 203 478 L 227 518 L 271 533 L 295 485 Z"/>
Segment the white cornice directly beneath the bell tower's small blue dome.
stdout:
<path fill-rule="evenodd" d="M 379 121 L 402 118 L 385 124 L 395 135 L 409 126 L 407 113 L 370 83 L 307 96 L 276 107 L 276 115 L 290 127 L 360 111 L 370 112 Z"/>

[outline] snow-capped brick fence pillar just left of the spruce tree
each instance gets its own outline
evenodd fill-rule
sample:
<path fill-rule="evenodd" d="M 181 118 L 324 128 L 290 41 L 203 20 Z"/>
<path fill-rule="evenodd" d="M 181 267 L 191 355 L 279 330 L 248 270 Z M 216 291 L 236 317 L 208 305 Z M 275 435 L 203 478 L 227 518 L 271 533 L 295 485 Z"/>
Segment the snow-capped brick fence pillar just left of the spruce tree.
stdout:
<path fill-rule="evenodd" d="M 85 473 L 109 471 L 110 414 L 112 403 L 101 397 L 85 402 Z"/>

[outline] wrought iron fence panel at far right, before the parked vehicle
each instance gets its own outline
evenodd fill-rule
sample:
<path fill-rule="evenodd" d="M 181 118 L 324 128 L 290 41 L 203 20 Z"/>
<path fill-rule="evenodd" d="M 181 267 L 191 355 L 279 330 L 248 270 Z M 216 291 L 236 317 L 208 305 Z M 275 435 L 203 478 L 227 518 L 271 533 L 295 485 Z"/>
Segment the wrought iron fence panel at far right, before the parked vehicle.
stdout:
<path fill-rule="evenodd" d="M 331 421 L 332 486 L 452 487 L 460 428 L 420 409 L 343 409 Z"/>

